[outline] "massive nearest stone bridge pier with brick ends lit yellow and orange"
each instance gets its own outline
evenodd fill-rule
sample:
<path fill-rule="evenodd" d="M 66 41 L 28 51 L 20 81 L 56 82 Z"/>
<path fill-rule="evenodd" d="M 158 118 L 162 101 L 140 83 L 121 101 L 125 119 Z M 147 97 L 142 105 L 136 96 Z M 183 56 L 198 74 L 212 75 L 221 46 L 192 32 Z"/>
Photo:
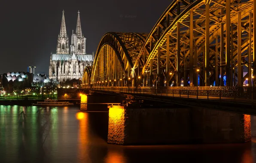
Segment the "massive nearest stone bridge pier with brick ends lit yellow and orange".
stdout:
<path fill-rule="evenodd" d="M 108 143 L 242 143 L 251 140 L 250 115 L 210 109 L 109 109 Z"/>

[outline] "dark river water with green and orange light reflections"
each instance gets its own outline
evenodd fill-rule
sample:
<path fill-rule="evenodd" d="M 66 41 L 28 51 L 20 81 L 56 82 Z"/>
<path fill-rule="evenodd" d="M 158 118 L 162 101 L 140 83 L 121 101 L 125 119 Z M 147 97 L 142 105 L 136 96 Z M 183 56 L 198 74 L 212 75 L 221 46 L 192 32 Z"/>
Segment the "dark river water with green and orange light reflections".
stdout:
<path fill-rule="evenodd" d="M 107 125 L 108 112 L 75 106 L 0 106 L 0 163 L 256 163 L 256 139 L 120 146 L 107 144 Z"/>

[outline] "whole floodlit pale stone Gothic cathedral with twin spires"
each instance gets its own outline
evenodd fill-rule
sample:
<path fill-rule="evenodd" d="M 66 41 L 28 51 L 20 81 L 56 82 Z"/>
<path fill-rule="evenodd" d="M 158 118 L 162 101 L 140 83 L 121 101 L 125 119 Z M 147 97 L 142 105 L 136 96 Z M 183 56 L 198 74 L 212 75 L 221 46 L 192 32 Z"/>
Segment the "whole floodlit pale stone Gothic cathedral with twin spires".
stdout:
<path fill-rule="evenodd" d="M 92 66 L 94 54 L 86 54 L 86 38 L 82 34 L 78 11 L 76 32 L 72 31 L 71 45 L 67 35 L 64 11 L 62 12 L 61 31 L 58 35 L 56 53 L 51 53 L 49 78 L 58 82 L 82 79 L 86 66 Z"/>

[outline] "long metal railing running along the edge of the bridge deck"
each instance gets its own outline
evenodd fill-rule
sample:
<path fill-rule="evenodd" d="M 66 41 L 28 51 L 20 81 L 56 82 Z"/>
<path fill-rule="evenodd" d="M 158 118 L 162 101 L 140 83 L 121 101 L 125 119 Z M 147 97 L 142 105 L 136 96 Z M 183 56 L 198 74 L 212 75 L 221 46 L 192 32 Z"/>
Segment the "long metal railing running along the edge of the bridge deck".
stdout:
<path fill-rule="evenodd" d="M 196 98 L 208 100 L 232 100 L 256 102 L 256 88 L 237 88 L 230 90 L 201 90 L 201 89 L 168 89 L 168 88 L 134 88 L 134 87 L 88 87 L 85 89 L 109 91 L 126 94 L 143 94 L 165 97 Z M 255 90 L 255 91 L 253 91 Z"/>

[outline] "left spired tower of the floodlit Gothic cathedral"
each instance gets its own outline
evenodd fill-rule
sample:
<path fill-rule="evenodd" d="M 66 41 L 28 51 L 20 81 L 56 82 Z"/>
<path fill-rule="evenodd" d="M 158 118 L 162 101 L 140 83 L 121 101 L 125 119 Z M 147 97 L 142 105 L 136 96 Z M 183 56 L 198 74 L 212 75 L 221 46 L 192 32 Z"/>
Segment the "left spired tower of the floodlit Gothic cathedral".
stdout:
<path fill-rule="evenodd" d="M 58 35 L 57 54 L 69 54 L 68 36 L 65 24 L 64 10 L 62 11 L 61 31 Z"/>

